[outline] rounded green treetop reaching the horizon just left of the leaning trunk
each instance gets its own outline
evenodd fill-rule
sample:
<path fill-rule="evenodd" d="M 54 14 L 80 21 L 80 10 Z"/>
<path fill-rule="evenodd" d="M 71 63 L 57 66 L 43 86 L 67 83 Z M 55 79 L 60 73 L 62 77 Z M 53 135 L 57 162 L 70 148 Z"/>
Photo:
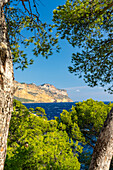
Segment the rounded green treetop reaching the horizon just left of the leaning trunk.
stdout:
<path fill-rule="evenodd" d="M 77 123 L 87 141 L 88 137 L 89 139 L 92 138 L 91 135 L 99 135 L 100 129 L 112 107 L 113 104 L 111 103 L 106 105 L 92 99 L 76 103 Z"/>

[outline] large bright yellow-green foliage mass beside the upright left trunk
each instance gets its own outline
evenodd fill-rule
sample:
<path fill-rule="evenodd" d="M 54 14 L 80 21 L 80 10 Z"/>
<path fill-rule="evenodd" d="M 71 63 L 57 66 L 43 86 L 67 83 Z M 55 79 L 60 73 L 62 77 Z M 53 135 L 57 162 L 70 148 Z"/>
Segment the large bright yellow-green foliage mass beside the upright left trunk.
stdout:
<path fill-rule="evenodd" d="M 45 113 L 44 109 L 37 110 Z M 33 112 L 14 100 L 5 169 L 79 170 L 78 142 L 74 143 L 66 131 L 59 130 L 56 120 L 49 121 Z"/>

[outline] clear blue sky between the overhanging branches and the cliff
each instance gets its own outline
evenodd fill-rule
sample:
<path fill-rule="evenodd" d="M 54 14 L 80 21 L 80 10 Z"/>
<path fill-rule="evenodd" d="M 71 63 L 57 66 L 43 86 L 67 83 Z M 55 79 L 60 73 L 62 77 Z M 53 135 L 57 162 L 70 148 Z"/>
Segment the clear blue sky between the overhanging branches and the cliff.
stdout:
<path fill-rule="evenodd" d="M 58 6 L 65 3 L 65 0 L 41 0 L 39 2 L 39 13 L 42 21 L 51 23 L 52 11 Z M 61 51 L 54 53 L 48 59 L 39 56 L 32 56 L 31 49 L 27 49 L 28 56 L 33 57 L 35 62 L 28 69 L 21 71 L 15 70 L 15 80 L 25 83 L 43 83 L 53 84 L 56 88 L 66 89 L 69 97 L 74 101 L 94 100 L 113 101 L 113 95 L 105 93 L 103 88 L 90 88 L 82 79 L 78 79 L 74 74 L 69 73 L 68 66 L 71 65 L 71 54 L 78 51 L 72 48 L 65 40 L 60 40 Z"/>

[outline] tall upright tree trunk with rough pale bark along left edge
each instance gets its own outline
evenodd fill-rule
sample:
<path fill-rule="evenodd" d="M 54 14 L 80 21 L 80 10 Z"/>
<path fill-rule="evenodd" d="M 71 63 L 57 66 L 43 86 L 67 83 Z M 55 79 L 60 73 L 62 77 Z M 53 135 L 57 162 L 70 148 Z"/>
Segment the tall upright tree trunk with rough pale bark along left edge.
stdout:
<path fill-rule="evenodd" d="M 3 12 L 3 5 L 7 1 L 0 0 L 0 170 L 4 169 L 9 123 L 13 110 L 13 65 Z"/>

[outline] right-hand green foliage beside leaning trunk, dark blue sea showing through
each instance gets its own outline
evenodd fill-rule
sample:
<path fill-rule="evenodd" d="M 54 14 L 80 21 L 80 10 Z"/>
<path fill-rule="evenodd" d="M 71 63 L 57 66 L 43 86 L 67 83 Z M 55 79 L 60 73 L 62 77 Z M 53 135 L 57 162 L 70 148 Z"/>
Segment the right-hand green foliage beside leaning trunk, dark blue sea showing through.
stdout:
<path fill-rule="evenodd" d="M 69 137 L 78 140 L 84 147 L 79 157 L 83 169 L 88 169 L 97 137 L 112 107 L 111 103 L 106 105 L 88 99 L 76 103 L 69 112 L 64 110 L 60 115 L 59 127 L 62 125 Z"/>

